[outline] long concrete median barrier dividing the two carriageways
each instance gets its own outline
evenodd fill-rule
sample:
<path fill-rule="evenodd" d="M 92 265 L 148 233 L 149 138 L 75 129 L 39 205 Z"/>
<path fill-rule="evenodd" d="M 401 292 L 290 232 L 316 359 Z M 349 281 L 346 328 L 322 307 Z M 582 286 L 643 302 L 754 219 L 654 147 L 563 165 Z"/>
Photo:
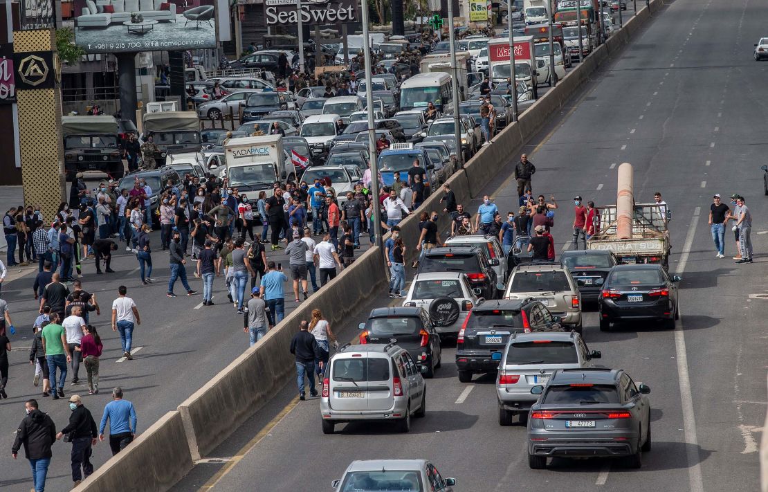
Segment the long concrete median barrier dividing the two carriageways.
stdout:
<path fill-rule="evenodd" d="M 539 97 L 517 123 L 502 130 L 494 144 L 482 147 L 463 170 L 448 180 L 456 200 L 468 203 L 498 173 L 511 173 L 514 160 L 510 156 L 516 155 L 527 140 L 535 137 L 551 115 L 588 81 L 598 66 L 626 45 L 631 35 L 662 5 L 662 0 L 653 0 L 650 7 L 638 11 L 624 28 L 593 51 L 556 87 Z M 442 210 L 441 195 L 435 190 L 421 210 Z M 449 218 L 446 214 L 440 216 L 438 225 L 445 228 Z M 406 244 L 416 244 L 419 238 L 417 214 L 406 217 L 399 226 Z M 415 259 L 415 248 L 408 251 L 407 261 Z M 382 251 L 372 247 L 336 276 L 329 286 L 313 295 L 312 302 L 304 303 L 287 315 L 257 345 L 180 404 L 177 411 L 166 414 L 74 490 L 111 492 L 118 487 L 142 492 L 168 490 L 190 471 L 194 461 L 226 440 L 294 374 L 293 356 L 287 347 L 301 319 L 309 319 L 312 309 L 320 309 L 332 325 L 346 322 L 361 302 L 383 293 L 387 283 Z M 222 412 L 221 408 L 227 408 L 227 411 Z"/>

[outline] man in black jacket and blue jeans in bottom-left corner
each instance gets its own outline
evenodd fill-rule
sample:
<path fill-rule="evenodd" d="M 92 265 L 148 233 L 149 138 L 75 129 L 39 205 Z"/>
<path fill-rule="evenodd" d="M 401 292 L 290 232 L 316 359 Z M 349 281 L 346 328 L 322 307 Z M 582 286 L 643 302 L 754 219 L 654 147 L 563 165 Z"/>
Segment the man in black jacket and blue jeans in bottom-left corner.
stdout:
<path fill-rule="evenodd" d="M 27 400 L 24 404 L 27 412 L 16 429 L 16 438 L 11 447 L 13 459 L 17 459 L 18 450 L 24 446 L 24 454 L 32 467 L 32 484 L 35 492 L 44 492 L 48 465 L 51 464 L 51 447 L 56 441 L 56 424 L 40 411 L 37 400 Z"/>

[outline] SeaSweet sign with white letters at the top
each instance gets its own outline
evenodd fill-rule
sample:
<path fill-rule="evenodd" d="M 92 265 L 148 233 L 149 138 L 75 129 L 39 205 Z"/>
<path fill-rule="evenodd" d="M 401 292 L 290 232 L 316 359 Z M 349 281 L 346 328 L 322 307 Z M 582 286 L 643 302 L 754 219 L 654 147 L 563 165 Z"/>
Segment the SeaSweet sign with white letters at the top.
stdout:
<path fill-rule="evenodd" d="M 303 25 L 357 22 L 357 4 L 356 0 L 301 0 L 301 21 Z M 266 25 L 296 25 L 296 0 L 264 0 L 264 15 Z"/>

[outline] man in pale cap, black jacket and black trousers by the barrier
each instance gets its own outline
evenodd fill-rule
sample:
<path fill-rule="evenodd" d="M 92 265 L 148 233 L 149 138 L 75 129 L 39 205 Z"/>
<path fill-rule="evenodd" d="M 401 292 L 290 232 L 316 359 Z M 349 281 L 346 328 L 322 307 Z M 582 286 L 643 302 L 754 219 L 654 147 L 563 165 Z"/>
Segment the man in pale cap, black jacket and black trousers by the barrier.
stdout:
<path fill-rule="evenodd" d="M 56 434 L 56 439 L 68 435 L 68 441 L 72 444 L 72 481 L 74 487 L 80 485 L 83 478 L 88 478 L 94 472 L 91 464 L 93 446 L 96 444 L 96 421 L 88 408 L 85 408 L 79 395 L 69 398 L 69 423 Z"/>

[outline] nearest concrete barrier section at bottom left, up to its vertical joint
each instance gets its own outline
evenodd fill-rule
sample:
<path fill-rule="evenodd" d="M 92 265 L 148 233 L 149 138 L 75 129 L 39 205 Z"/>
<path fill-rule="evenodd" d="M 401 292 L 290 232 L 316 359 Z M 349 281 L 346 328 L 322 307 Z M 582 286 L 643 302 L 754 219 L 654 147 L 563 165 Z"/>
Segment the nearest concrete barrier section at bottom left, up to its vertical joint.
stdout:
<path fill-rule="evenodd" d="M 192 465 L 181 414 L 169 411 L 73 490 L 161 492 L 173 487 Z"/>

